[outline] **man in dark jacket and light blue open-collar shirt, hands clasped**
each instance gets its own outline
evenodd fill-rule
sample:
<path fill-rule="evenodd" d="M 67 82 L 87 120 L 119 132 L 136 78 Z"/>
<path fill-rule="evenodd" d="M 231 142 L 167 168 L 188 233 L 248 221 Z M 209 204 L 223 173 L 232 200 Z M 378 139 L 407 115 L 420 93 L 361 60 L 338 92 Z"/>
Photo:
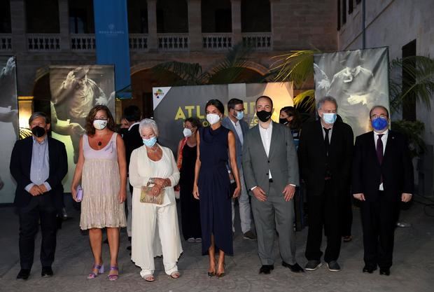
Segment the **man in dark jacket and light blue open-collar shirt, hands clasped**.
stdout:
<path fill-rule="evenodd" d="M 10 174 L 17 182 L 14 204 L 20 216 L 20 265 L 17 279 L 27 279 L 34 258 L 34 239 L 41 223 L 42 277 L 52 276 L 56 249 L 56 217 L 63 207 L 62 179 L 68 172 L 62 142 L 48 137 L 50 118 L 36 112 L 29 118 L 33 135 L 18 140 L 10 155 Z"/>

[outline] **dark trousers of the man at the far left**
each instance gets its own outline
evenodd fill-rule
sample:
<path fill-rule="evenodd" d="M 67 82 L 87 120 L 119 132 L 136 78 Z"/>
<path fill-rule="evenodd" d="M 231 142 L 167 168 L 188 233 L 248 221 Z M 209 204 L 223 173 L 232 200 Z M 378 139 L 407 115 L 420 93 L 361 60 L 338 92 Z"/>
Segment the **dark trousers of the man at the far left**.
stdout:
<path fill-rule="evenodd" d="M 57 233 L 57 209 L 52 204 L 50 193 L 31 197 L 26 207 L 18 209 L 20 216 L 20 265 L 31 269 L 34 259 L 35 237 L 41 223 L 41 264 L 50 267 L 54 261 Z"/>

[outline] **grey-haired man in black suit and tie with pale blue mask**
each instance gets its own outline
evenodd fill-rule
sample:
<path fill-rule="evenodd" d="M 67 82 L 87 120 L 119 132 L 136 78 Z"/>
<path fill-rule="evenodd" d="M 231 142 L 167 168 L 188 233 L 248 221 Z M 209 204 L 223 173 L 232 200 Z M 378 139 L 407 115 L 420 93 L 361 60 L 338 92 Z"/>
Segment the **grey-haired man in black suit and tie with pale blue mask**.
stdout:
<path fill-rule="evenodd" d="M 319 120 L 302 127 L 298 159 L 302 179 L 307 187 L 309 231 L 305 256 L 306 270 L 321 267 L 323 228 L 327 237 L 324 261 L 332 272 L 339 272 L 337 263 L 341 247 L 340 207 L 349 195 L 346 181 L 351 179 L 353 131 L 346 123 L 335 123 L 337 102 L 333 97 L 319 99 Z"/>

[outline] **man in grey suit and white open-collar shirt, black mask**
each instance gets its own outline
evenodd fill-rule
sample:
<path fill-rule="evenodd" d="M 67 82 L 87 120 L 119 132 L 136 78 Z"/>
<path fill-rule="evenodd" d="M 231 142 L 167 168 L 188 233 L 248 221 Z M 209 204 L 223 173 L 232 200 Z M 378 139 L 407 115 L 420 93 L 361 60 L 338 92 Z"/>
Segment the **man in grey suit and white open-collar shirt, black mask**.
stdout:
<path fill-rule="evenodd" d="M 279 249 L 283 267 L 304 272 L 295 261 L 293 196 L 298 181 L 297 152 L 288 127 L 271 120 L 272 99 L 256 99 L 259 123 L 244 137 L 244 179 L 251 194 L 253 218 L 258 236 L 260 274 L 274 269 L 273 245 L 279 233 Z"/>

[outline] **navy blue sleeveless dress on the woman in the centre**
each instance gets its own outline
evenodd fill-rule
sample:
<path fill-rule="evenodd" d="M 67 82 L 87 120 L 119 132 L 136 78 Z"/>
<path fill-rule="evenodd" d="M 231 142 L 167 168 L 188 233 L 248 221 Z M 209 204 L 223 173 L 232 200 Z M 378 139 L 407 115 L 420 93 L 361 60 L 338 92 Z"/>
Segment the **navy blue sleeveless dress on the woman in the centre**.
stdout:
<path fill-rule="evenodd" d="M 197 180 L 200 195 L 200 223 L 202 226 L 202 255 L 208 254 L 211 234 L 218 249 L 232 256 L 232 204 L 228 162 L 228 133 L 221 126 L 199 129 L 200 172 Z"/>

